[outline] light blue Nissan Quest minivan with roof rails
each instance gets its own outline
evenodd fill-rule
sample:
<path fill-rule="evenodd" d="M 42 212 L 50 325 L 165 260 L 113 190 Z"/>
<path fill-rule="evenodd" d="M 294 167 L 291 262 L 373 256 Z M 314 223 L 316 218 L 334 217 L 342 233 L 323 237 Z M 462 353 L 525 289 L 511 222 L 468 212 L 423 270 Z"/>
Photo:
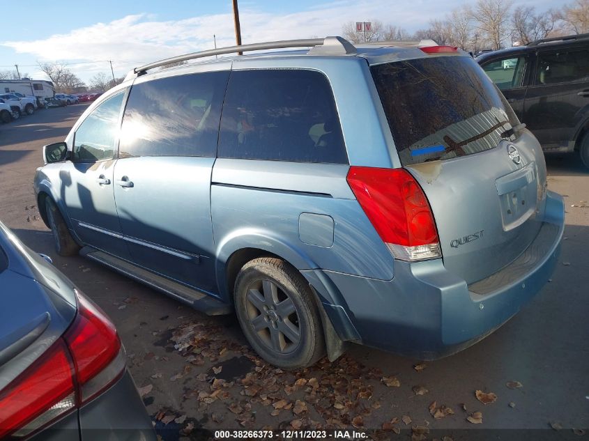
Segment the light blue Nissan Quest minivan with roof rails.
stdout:
<path fill-rule="evenodd" d="M 434 359 L 496 330 L 563 235 L 533 134 L 454 47 L 220 53 L 289 45 L 312 48 L 151 63 L 86 109 L 34 178 L 57 252 L 235 310 L 285 368 L 348 341 Z"/>

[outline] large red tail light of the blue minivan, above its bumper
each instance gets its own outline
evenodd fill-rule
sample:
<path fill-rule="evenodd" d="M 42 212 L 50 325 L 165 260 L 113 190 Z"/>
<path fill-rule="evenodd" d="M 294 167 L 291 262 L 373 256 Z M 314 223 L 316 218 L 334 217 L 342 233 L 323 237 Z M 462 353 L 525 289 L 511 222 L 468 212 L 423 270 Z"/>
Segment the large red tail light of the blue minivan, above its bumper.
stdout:
<path fill-rule="evenodd" d="M 405 169 L 350 167 L 347 180 L 395 258 L 420 261 L 441 257 L 434 215 L 411 173 Z"/>

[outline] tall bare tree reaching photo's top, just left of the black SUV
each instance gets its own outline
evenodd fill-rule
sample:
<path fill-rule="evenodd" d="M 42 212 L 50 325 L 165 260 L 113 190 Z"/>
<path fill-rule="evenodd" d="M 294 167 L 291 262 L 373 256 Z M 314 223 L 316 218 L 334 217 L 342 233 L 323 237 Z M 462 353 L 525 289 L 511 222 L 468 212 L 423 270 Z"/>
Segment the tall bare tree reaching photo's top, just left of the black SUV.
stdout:
<path fill-rule="evenodd" d="M 477 0 L 473 7 L 468 8 L 479 38 L 487 42 L 491 49 L 501 49 L 503 41 L 510 36 L 511 7 L 511 0 Z"/>

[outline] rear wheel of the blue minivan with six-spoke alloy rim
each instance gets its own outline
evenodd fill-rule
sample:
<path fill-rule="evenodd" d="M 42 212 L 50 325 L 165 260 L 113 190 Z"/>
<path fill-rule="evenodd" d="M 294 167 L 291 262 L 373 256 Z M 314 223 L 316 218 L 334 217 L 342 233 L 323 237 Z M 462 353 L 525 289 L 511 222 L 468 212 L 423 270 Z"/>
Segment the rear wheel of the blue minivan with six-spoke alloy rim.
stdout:
<path fill-rule="evenodd" d="M 256 258 L 241 268 L 236 314 L 250 345 L 284 369 L 311 366 L 325 353 L 321 318 L 305 278 L 278 258 Z"/>

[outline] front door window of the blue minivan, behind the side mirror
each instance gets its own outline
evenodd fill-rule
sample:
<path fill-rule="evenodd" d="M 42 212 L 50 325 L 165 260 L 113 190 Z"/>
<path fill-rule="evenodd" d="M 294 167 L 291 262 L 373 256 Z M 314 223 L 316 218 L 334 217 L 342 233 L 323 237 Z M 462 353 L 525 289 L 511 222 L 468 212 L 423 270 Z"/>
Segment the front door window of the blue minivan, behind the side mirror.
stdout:
<path fill-rule="evenodd" d="M 118 139 L 118 116 L 123 105 L 124 92 L 100 103 L 74 135 L 72 160 L 76 162 L 95 162 L 114 157 Z"/>

